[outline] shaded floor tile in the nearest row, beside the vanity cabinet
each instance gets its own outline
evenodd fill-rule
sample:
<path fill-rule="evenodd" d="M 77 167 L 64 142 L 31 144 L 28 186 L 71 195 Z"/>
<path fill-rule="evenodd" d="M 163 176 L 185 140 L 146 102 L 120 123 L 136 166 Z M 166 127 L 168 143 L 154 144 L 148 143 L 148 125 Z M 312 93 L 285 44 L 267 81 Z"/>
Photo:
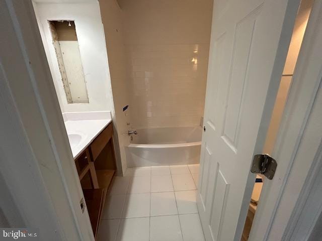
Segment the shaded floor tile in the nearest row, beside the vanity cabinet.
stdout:
<path fill-rule="evenodd" d="M 97 234 L 97 241 L 115 241 L 121 219 L 102 219 Z"/>

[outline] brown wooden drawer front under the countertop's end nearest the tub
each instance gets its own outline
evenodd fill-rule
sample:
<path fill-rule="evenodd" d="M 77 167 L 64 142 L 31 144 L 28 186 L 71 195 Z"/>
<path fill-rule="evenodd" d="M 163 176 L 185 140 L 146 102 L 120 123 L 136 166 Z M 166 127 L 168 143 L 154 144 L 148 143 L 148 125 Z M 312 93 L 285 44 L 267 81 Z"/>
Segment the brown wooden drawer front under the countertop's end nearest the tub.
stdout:
<path fill-rule="evenodd" d="M 93 161 L 96 160 L 96 158 L 100 155 L 103 148 L 106 146 L 106 144 L 109 142 L 109 140 L 112 138 L 113 135 L 113 125 L 110 123 L 102 132 L 100 135 L 98 135 L 97 138 L 92 142 L 90 145 Z"/>

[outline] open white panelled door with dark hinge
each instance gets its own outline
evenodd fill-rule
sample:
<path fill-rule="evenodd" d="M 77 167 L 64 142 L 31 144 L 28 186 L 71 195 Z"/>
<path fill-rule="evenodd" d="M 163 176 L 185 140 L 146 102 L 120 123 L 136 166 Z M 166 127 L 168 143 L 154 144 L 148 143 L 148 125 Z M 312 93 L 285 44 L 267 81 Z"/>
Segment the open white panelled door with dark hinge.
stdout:
<path fill-rule="evenodd" d="M 240 240 L 298 6 L 214 1 L 197 194 L 207 241 Z"/>

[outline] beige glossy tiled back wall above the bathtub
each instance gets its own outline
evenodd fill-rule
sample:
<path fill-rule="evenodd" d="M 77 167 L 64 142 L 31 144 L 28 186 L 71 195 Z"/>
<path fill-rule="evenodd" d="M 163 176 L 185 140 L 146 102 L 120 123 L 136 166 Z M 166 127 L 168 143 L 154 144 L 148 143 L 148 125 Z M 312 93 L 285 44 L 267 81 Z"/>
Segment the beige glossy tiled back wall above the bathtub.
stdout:
<path fill-rule="evenodd" d="M 198 126 L 212 0 L 120 0 L 134 128 Z"/>

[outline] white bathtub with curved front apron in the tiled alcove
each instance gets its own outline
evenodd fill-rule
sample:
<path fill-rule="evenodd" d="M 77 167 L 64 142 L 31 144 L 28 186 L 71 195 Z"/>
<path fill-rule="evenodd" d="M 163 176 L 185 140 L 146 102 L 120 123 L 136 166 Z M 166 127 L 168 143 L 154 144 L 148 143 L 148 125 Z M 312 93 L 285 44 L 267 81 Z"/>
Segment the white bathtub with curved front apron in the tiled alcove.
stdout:
<path fill-rule="evenodd" d="M 201 127 L 138 129 L 126 147 L 128 167 L 199 163 Z"/>

